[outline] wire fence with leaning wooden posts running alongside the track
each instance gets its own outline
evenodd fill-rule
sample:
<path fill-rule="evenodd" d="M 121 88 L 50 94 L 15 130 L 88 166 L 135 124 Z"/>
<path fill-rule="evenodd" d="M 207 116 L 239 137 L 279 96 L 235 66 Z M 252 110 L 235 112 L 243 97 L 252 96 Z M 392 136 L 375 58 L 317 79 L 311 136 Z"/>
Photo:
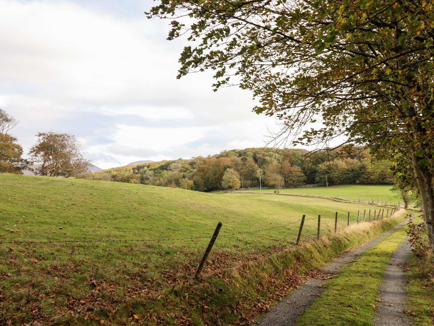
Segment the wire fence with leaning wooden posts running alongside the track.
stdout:
<path fill-rule="evenodd" d="M 0 324 L 60 324 L 71 318 L 100 323 L 123 318 L 120 323 L 125 323 L 136 317 L 156 323 L 153 307 L 168 291 L 197 286 L 196 280 L 209 277 L 227 279 L 231 269 L 394 213 L 380 209 L 303 216 L 237 233 L 225 232 L 223 226 L 211 241 L 212 230 L 152 240 L 5 240 L 0 243 Z M 147 313 L 135 315 L 137 305 Z"/>

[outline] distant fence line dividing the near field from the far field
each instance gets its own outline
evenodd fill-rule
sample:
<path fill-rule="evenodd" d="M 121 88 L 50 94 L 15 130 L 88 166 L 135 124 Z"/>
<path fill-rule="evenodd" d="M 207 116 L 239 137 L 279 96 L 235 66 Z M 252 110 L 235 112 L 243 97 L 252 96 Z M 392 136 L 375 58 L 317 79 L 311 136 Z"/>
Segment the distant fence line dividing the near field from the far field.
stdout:
<path fill-rule="evenodd" d="M 251 188 L 253 189 L 253 188 Z M 256 189 L 256 188 L 255 188 Z M 262 188 L 265 189 L 265 188 Z M 228 193 L 258 193 L 257 191 L 249 191 L 243 189 L 237 190 L 228 190 Z M 260 193 L 270 194 L 270 191 L 262 191 Z M 273 192 L 276 194 L 276 190 Z M 300 193 L 278 193 L 279 195 L 284 196 L 300 196 L 300 197 L 314 197 L 314 198 L 327 198 L 331 200 L 336 200 L 342 203 L 351 203 L 351 204 L 362 204 L 369 206 L 379 206 L 379 207 L 389 207 L 389 208 L 398 208 L 404 207 L 404 202 L 401 201 L 391 201 L 391 200 L 380 200 L 379 198 L 371 197 L 369 199 L 363 199 L 360 197 L 352 198 L 352 197 L 340 197 L 339 194 L 337 196 L 319 196 L 314 195 L 312 193 L 300 194 Z M 408 203 L 407 207 L 404 208 L 417 208 L 415 203 Z"/>

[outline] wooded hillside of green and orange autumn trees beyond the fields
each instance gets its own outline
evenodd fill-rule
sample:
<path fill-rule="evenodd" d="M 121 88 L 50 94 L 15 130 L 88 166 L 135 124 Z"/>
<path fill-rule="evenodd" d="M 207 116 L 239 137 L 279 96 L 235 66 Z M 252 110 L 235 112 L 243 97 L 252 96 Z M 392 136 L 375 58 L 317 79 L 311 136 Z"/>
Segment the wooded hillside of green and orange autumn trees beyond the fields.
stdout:
<path fill-rule="evenodd" d="M 122 166 L 82 176 L 90 180 L 142 183 L 213 191 L 240 187 L 282 187 L 305 183 L 391 184 L 391 162 L 371 160 L 368 151 L 352 146 L 329 153 L 300 149 L 247 148 L 208 157 Z M 326 177 L 327 176 L 327 177 Z"/>

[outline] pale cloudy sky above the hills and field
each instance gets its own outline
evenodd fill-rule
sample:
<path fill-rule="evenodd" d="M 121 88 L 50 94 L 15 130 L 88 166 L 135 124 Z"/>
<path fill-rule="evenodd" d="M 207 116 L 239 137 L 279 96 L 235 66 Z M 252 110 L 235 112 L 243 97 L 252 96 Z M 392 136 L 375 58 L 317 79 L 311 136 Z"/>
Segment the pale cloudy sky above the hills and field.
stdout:
<path fill-rule="evenodd" d="M 150 0 L 0 0 L 0 108 L 36 133 L 76 136 L 103 169 L 262 147 L 279 126 L 247 90 L 213 92 L 211 72 L 176 79 L 185 39 L 148 20 Z"/>

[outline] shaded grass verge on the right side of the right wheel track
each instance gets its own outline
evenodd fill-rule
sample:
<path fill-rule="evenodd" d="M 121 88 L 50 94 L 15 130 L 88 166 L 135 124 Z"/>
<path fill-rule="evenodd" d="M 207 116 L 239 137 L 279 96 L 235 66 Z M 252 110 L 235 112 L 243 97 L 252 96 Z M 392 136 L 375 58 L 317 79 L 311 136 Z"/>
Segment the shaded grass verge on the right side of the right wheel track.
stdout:
<path fill-rule="evenodd" d="M 413 325 L 434 325 L 434 256 L 428 246 L 424 223 L 411 232 L 412 254 L 407 273 L 406 309 Z"/>

